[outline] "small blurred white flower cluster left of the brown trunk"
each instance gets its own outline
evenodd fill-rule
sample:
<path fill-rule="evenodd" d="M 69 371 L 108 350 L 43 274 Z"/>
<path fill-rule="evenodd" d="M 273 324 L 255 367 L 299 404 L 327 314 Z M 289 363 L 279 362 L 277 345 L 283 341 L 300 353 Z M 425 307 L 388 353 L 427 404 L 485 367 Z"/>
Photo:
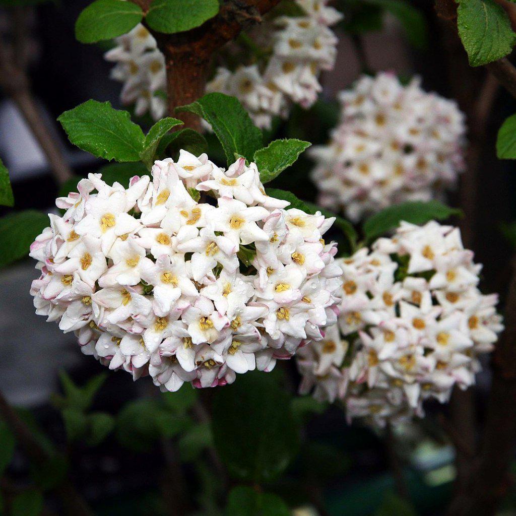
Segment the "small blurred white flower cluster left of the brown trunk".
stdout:
<path fill-rule="evenodd" d="M 156 40 L 141 24 L 116 38 L 117 45 L 106 52 L 107 61 L 116 62 L 111 78 L 123 83 L 122 104 L 135 104 L 138 116 L 150 111 L 154 120 L 165 115 L 165 58 L 157 49 Z"/>

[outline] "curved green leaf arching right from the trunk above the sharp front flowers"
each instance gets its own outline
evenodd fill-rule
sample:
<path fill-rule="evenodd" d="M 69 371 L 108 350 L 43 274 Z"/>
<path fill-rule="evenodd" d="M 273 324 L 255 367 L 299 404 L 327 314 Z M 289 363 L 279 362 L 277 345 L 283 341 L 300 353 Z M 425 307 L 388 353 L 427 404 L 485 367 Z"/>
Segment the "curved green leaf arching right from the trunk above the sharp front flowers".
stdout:
<path fill-rule="evenodd" d="M 176 108 L 204 118 L 219 139 L 228 160 L 235 162 L 235 154 L 252 161 L 254 153 L 263 147 L 262 132 L 235 97 L 223 93 L 208 93 L 199 100 Z"/>

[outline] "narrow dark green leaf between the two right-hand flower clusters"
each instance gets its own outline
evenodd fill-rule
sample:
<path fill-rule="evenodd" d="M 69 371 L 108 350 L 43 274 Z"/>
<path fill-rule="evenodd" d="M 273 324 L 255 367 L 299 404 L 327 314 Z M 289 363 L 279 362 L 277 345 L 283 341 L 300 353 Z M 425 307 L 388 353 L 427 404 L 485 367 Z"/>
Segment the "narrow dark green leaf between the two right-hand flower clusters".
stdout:
<path fill-rule="evenodd" d="M 452 215 L 461 215 L 460 209 L 450 208 L 439 201 L 408 201 L 394 204 L 369 217 L 364 222 L 364 235 L 372 241 L 397 228 L 404 220 L 413 224 L 425 224 L 429 220 L 445 220 Z"/>

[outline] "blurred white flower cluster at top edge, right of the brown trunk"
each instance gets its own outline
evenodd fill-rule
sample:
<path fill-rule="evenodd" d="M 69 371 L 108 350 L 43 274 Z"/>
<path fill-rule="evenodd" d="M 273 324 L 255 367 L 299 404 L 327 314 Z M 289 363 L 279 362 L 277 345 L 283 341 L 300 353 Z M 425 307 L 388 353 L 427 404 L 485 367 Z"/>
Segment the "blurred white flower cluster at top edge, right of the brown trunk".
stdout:
<path fill-rule="evenodd" d="M 335 64 L 338 39 L 329 26 L 342 15 L 329 0 L 296 0 L 302 15 L 280 16 L 261 27 L 258 40 L 270 44 L 271 55 L 263 66 L 240 66 L 235 71 L 220 67 L 208 83 L 208 92 L 236 96 L 259 127 L 270 128 L 273 116 L 286 116 L 289 104 L 310 107 L 322 90 L 318 81 L 321 70 Z"/>

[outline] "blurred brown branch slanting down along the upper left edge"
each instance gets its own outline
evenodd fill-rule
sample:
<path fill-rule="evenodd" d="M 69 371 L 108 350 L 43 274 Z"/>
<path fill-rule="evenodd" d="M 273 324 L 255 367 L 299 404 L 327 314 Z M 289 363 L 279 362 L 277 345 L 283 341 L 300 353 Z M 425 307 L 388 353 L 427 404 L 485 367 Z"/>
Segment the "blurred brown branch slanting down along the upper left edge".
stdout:
<path fill-rule="evenodd" d="M 30 90 L 27 73 L 27 23 L 26 11 L 15 8 L 9 11 L 12 18 L 13 44 L 0 42 L 0 88 L 21 111 L 27 125 L 43 150 L 52 172 L 59 183 L 72 177 L 61 151 L 47 131 L 41 111 Z"/>

